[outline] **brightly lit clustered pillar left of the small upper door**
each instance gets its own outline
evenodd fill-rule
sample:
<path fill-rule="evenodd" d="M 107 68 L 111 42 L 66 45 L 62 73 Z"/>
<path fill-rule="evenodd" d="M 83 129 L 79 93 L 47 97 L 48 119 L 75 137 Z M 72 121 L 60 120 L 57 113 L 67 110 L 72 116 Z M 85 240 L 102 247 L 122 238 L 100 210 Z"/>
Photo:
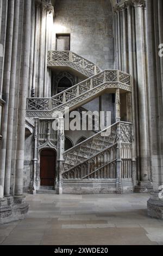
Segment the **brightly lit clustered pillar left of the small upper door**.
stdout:
<path fill-rule="evenodd" d="M 47 52 L 52 50 L 53 7 L 35 2 L 33 74 L 29 88 L 35 97 L 51 97 L 51 70 L 47 69 Z"/>

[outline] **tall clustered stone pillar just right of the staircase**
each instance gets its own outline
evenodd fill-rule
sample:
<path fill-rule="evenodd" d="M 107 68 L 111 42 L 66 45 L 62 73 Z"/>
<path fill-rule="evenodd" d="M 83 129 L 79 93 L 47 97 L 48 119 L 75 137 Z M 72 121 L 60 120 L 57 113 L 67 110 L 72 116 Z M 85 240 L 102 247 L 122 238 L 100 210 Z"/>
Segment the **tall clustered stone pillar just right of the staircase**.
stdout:
<path fill-rule="evenodd" d="M 146 33 L 145 1 L 122 1 L 115 5 L 118 42 L 118 69 L 133 77 L 132 95 L 127 94 L 127 120 L 132 121 L 135 140 L 133 142 L 133 173 L 135 192 L 147 192 L 153 189 L 149 172 L 149 127 L 146 81 Z M 117 98 L 118 99 L 118 98 Z M 133 108 L 131 110 L 131 102 Z M 116 103 L 118 111 L 118 100 Z M 136 161 L 135 161 L 136 160 Z M 137 180 L 137 182 L 136 182 Z"/>

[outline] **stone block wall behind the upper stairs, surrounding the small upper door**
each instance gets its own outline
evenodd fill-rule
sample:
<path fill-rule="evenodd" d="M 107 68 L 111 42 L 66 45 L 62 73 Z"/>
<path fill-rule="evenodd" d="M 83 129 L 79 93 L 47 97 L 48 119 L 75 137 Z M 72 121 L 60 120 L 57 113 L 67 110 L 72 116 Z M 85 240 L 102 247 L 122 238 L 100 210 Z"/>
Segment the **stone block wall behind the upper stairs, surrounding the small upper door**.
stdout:
<path fill-rule="evenodd" d="M 114 66 L 111 5 L 109 0 L 55 1 L 55 34 L 71 34 L 71 51 L 91 60 L 101 69 Z"/>

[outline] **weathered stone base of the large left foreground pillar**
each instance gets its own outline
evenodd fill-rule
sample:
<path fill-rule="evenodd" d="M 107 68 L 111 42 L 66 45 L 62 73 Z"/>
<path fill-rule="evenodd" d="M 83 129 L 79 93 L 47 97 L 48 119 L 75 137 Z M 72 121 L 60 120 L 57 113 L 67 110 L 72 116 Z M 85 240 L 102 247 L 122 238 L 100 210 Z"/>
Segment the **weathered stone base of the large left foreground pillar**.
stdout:
<path fill-rule="evenodd" d="M 22 220 L 26 217 L 28 209 L 24 195 L 0 199 L 0 224 Z"/>

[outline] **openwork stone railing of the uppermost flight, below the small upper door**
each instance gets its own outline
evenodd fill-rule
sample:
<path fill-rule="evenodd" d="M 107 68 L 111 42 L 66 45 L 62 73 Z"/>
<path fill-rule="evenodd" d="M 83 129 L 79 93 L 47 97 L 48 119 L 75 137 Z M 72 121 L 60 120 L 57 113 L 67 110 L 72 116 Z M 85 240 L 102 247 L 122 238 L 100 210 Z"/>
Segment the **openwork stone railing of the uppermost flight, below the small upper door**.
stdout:
<path fill-rule="evenodd" d="M 90 60 L 79 56 L 71 51 L 48 51 L 47 66 L 61 66 L 61 65 L 75 65 L 76 69 L 81 71 L 80 68 L 87 71 L 87 76 L 96 75 L 101 70 Z M 72 68 L 73 68 L 72 66 Z"/>

